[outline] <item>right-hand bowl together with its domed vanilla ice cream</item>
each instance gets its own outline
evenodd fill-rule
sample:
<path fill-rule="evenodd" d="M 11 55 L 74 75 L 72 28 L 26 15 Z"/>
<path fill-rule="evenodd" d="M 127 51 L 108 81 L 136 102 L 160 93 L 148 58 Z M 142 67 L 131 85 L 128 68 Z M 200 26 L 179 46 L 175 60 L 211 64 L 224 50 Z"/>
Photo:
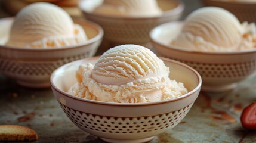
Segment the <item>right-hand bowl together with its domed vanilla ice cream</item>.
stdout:
<path fill-rule="evenodd" d="M 185 21 L 162 24 L 150 32 L 158 54 L 193 67 L 202 90 L 228 91 L 256 69 L 255 24 L 240 23 L 229 11 L 205 7 Z"/>

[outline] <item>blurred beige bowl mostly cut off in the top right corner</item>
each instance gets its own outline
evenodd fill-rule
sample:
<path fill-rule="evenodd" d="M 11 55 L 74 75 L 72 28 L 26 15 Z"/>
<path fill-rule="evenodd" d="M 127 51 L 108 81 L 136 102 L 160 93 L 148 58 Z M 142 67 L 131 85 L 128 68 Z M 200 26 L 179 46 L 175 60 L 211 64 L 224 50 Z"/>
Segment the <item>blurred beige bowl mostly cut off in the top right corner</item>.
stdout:
<path fill-rule="evenodd" d="M 240 22 L 256 21 L 256 2 L 244 2 L 244 1 L 217 1 L 217 0 L 202 0 L 203 5 L 215 6 L 225 8 L 231 13 L 235 14 Z"/>

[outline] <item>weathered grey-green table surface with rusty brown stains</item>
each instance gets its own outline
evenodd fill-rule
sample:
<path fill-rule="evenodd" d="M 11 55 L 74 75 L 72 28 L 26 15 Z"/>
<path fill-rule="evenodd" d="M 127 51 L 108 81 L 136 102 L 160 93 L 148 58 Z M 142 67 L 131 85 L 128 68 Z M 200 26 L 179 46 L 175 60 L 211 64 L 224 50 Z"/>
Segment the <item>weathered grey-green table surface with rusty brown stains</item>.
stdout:
<path fill-rule="evenodd" d="M 184 1 L 186 17 L 201 7 L 199 1 Z M 0 18 L 8 14 L 0 9 Z M 201 92 L 192 109 L 174 129 L 153 142 L 256 142 L 256 132 L 240 124 L 243 108 L 256 100 L 256 77 L 239 83 L 233 91 Z M 28 126 L 39 136 L 36 142 L 103 142 L 77 128 L 64 114 L 51 89 L 30 89 L 0 75 L 0 125 Z"/>

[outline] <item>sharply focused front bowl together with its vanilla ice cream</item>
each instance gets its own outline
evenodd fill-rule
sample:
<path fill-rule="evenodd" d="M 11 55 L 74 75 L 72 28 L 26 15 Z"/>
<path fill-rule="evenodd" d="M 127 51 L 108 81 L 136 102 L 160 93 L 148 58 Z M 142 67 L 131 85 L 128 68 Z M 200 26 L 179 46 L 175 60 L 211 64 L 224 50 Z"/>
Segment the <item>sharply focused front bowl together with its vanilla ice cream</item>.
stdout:
<path fill-rule="evenodd" d="M 122 45 L 59 67 L 51 87 L 78 128 L 106 142 L 147 142 L 186 116 L 201 77 L 143 46 Z"/>

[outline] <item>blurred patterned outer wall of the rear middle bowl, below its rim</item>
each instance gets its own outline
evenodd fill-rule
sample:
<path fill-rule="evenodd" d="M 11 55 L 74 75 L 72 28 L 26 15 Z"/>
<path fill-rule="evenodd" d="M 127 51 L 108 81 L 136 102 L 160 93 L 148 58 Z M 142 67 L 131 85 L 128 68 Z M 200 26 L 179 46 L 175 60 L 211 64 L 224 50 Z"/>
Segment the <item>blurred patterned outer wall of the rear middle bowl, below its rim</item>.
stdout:
<path fill-rule="evenodd" d="M 120 43 L 145 43 L 149 41 L 149 31 L 165 21 L 146 23 L 145 21 L 109 20 L 107 18 L 91 17 L 91 21 L 100 24 L 104 28 L 105 37 L 110 41 Z M 166 20 L 167 22 L 167 20 Z"/>

